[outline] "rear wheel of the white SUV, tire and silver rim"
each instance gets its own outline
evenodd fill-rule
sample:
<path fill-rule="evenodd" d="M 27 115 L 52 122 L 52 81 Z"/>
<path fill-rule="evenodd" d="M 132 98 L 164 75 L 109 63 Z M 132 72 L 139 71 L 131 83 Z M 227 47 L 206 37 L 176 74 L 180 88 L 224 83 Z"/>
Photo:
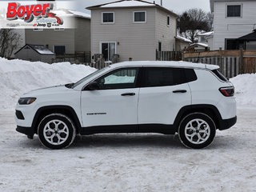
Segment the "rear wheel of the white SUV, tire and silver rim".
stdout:
<path fill-rule="evenodd" d="M 207 114 L 188 114 L 178 127 L 178 137 L 182 144 L 192 149 L 209 146 L 215 138 L 216 126 Z"/>

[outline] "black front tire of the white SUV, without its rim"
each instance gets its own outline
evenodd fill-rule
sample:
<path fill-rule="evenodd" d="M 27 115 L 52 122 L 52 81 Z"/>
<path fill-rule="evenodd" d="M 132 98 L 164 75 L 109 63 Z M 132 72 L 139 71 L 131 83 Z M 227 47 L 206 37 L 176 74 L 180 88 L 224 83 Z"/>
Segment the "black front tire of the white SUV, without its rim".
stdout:
<path fill-rule="evenodd" d="M 46 141 L 46 138 L 43 136 L 43 129 L 46 126 L 46 124 L 52 120 L 60 120 L 62 122 L 66 123 L 66 126 L 69 129 L 69 136 L 66 139 L 66 142 L 63 142 L 61 145 L 58 146 L 54 146 L 52 144 L 50 144 L 50 142 Z M 70 146 L 71 142 L 73 142 L 74 140 L 74 126 L 73 126 L 73 122 L 70 121 L 69 118 L 66 118 L 66 116 L 62 115 L 62 114 L 50 114 L 48 116 L 46 116 L 45 118 L 42 119 L 42 122 L 40 122 L 39 126 L 38 126 L 38 138 L 40 140 L 40 142 L 42 142 L 43 146 L 46 146 L 47 148 L 53 149 L 53 150 L 59 150 L 62 148 L 66 148 L 67 146 Z"/>

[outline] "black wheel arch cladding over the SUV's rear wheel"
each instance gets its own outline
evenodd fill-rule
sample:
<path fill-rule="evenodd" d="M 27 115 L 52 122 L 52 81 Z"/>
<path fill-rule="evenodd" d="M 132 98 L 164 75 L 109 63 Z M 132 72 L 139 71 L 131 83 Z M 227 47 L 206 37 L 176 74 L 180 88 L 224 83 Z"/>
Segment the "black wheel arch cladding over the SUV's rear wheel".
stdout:
<path fill-rule="evenodd" d="M 176 131 L 178 131 L 178 126 L 183 118 L 186 117 L 187 114 L 192 114 L 195 112 L 207 114 L 214 120 L 215 126 L 218 129 L 221 126 L 222 116 L 219 113 L 216 106 L 213 105 L 191 105 L 191 106 L 183 106 L 181 110 L 179 110 L 175 120 L 174 127 Z"/>

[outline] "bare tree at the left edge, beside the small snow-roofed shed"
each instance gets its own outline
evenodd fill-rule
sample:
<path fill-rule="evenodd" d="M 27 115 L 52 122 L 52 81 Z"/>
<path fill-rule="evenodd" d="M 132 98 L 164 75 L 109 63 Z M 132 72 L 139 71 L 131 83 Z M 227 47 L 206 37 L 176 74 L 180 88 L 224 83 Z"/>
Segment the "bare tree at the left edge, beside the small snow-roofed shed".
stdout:
<path fill-rule="evenodd" d="M 0 30 L 0 57 L 10 58 L 18 48 L 20 34 L 11 29 Z"/>

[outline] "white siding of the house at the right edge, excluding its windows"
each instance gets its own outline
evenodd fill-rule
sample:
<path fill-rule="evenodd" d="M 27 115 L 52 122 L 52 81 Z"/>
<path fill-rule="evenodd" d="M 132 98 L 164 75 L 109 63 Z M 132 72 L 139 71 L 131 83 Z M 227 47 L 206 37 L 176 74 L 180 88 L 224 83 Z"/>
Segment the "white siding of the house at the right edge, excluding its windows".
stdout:
<path fill-rule="evenodd" d="M 242 4 L 241 18 L 226 18 L 226 5 Z M 214 50 L 225 49 L 226 38 L 239 38 L 250 34 L 256 24 L 256 1 L 214 2 Z"/>

